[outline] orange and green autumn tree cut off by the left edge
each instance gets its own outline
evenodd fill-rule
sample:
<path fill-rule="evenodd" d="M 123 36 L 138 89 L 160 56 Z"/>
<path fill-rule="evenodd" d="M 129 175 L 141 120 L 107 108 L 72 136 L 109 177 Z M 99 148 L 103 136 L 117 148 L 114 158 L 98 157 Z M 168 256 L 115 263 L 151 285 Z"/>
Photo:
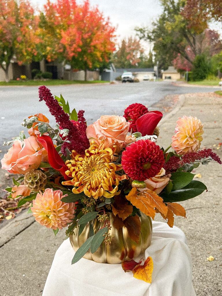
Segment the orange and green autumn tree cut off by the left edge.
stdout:
<path fill-rule="evenodd" d="M 15 56 L 18 64 L 37 56 L 38 17 L 28 0 L 0 0 L 0 67 L 9 81 L 9 65 Z"/>

